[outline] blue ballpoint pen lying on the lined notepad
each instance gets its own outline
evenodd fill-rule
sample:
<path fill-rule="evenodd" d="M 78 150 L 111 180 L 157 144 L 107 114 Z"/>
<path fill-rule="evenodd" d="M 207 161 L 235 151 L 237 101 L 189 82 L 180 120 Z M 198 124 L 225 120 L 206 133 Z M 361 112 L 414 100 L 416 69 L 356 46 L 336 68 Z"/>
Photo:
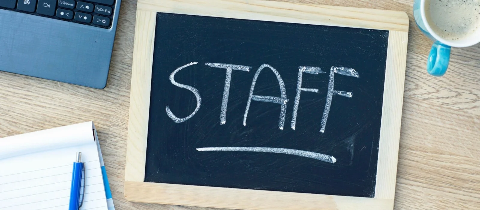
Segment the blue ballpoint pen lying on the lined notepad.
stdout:
<path fill-rule="evenodd" d="M 82 174 L 84 172 L 84 163 L 81 162 L 82 152 L 77 152 L 77 158 L 73 162 L 72 187 L 70 188 L 70 204 L 68 210 L 79 210 L 82 207 L 80 202 L 80 188 L 82 187 Z M 85 193 L 85 190 L 84 190 Z"/>

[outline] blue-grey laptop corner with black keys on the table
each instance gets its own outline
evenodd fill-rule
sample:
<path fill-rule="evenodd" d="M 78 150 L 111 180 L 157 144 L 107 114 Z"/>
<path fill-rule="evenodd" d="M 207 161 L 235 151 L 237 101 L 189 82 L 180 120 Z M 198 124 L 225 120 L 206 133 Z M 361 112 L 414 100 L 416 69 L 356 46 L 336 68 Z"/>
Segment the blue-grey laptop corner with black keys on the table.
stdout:
<path fill-rule="evenodd" d="M 0 0 L 0 71 L 103 89 L 119 12 L 120 0 Z"/>

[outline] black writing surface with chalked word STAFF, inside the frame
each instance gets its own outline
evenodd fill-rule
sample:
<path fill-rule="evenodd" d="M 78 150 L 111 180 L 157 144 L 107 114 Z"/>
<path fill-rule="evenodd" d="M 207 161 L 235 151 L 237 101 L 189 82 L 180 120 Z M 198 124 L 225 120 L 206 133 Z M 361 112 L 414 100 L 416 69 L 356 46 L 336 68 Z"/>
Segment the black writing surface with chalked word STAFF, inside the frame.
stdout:
<path fill-rule="evenodd" d="M 387 42 L 157 13 L 144 181 L 374 197 Z"/>

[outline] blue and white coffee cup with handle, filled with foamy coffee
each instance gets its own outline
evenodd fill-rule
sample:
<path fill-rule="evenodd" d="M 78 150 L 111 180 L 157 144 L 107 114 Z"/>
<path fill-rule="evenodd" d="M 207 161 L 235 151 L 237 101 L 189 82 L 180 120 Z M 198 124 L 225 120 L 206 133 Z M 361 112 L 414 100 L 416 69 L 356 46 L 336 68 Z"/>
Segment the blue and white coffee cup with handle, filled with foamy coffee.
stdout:
<path fill-rule="evenodd" d="M 443 76 L 451 47 L 480 42 L 480 0 L 415 0 L 413 15 L 420 31 L 432 39 L 427 71 Z"/>

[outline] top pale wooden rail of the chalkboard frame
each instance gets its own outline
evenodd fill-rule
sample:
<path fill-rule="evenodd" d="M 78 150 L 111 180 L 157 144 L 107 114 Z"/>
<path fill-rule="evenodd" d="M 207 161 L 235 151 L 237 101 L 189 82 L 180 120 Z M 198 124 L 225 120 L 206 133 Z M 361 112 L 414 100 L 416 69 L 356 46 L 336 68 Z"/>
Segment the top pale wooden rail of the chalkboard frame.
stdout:
<path fill-rule="evenodd" d="M 405 12 L 354 7 L 265 0 L 139 0 L 137 7 L 154 12 L 408 31 Z"/>

